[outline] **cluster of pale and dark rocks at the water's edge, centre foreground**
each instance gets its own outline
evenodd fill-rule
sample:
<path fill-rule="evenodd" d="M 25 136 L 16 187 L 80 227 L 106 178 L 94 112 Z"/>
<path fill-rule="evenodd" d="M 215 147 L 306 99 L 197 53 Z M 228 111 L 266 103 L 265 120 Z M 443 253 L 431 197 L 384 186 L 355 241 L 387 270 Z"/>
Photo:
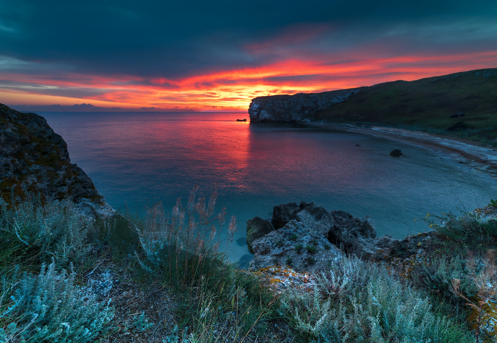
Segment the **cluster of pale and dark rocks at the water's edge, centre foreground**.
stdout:
<path fill-rule="evenodd" d="M 277 230 L 252 242 L 253 269 L 290 265 L 296 270 L 321 270 L 342 252 L 369 259 L 379 250 L 399 246 L 390 235 L 376 238 L 370 216 L 357 218 L 312 202 L 274 206 L 271 223 Z"/>

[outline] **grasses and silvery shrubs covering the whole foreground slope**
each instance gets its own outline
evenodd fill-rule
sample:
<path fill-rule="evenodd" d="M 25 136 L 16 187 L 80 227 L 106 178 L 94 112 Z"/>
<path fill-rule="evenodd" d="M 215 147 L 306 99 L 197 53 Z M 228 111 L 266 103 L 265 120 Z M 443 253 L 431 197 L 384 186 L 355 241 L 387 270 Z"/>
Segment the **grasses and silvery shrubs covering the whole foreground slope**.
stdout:
<path fill-rule="evenodd" d="M 170 214 L 157 203 L 143 218 L 125 211 L 97 220 L 82 217 L 71 203 L 43 204 L 35 196 L 2 203 L 0 337 L 78 343 L 474 342 L 481 326 L 474 325 L 485 321 L 487 311 L 481 299 L 495 296 L 485 282 L 494 284 L 495 256 L 482 257 L 487 266 L 481 266 L 477 254 L 419 258 L 411 278 L 384 263 L 342 257 L 318 275 L 313 292 L 275 292 L 256 273 L 229 261 L 236 218 L 226 223 L 216 200 L 215 190 L 206 198 L 195 188 Z M 437 230 L 434 241 L 444 242 L 447 251 L 459 246 L 485 252 L 495 239 L 488 224 L 470 214 L 449 214 L 430 225 Z M 104 275 L 114 288 L 96 292 L 94 282 L 107 280 Z M 470 303 L 476 307 L 465 305 Z"/>

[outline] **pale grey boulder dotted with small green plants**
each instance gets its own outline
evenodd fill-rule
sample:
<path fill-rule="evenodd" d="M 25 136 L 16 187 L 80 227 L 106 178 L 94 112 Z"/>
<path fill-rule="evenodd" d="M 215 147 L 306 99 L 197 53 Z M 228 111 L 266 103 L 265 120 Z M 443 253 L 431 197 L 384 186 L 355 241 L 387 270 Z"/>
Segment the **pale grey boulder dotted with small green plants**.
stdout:
<path fill-rule="evenodd" d="M 320 231 L 296 220 L 253 241 L 252 250 L 253 270 L 289 265 L 295 270 L 315 272 L 326 269 L 342 254 Z"/>

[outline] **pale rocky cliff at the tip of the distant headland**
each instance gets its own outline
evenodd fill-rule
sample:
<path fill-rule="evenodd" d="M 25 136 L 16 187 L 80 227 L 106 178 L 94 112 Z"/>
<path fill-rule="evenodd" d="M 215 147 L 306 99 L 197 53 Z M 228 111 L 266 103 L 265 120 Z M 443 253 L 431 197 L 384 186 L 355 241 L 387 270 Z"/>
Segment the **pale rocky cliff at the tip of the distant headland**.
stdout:
<path fill-rule="evenodd" d="M 306 120 L 317 111 L 330 109 L 334 103 L 368 87 L 331 90 L 322 93 L 257 96 L 248 106 L 250 121 L 291 123 Z"/>

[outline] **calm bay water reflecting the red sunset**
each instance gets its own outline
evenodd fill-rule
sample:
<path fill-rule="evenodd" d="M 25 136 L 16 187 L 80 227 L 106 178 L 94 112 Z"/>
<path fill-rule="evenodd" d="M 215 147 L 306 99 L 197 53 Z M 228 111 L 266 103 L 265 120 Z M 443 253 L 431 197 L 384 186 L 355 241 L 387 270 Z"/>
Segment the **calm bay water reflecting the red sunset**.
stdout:
<path fill-rule="evenodd" d="M 115 208 L 171 209 L 194 184 L 237 216 L 234 260 L 246 261 L 246 221 L 275 205 L 314 201 L 371 215 L 378 235 L 422 232 L 427 212 L 473 210 L 497 182 L 441 152 L 348 132 L 237 122 L 234 113 L 38 112 L 68 144 L 73 163 Z M 357 147 L 359 144 L 360 147 Z M 400 158 L 391 157 L 402 149 Z"/>

